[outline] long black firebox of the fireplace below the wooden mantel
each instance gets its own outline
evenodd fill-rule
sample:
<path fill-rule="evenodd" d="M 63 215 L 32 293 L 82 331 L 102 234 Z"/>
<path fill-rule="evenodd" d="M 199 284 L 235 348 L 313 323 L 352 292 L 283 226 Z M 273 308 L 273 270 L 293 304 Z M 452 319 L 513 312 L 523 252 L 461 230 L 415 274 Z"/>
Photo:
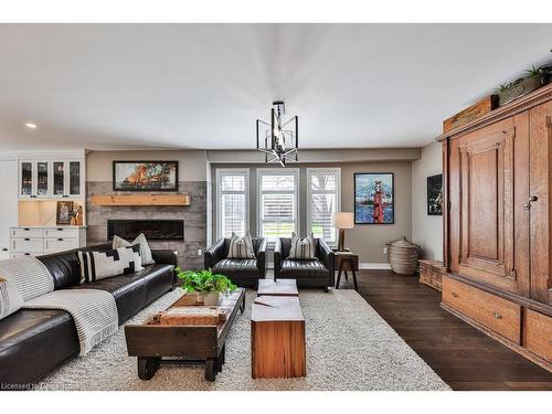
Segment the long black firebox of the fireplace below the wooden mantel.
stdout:
<path fill-rule="evenodd" d="M 108 220 L 107 237 L 134 240 L 144 233 L 147 240 L 183 241 L 183 220 Z"/>

